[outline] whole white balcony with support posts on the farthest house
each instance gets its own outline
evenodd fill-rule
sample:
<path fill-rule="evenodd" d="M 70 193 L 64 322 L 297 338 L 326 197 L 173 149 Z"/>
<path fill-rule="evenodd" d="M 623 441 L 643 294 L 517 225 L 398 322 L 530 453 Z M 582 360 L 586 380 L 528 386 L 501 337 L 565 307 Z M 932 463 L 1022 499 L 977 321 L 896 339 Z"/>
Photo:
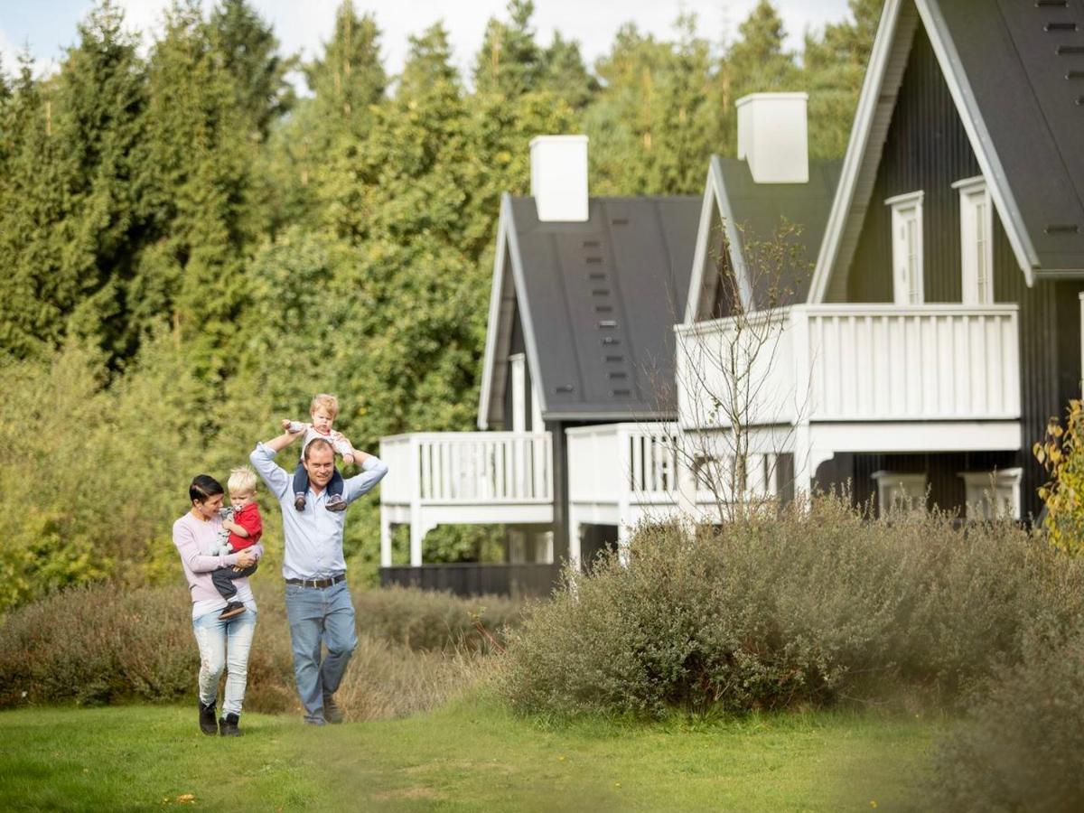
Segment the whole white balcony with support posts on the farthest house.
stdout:
<path fill-rule="evenodd" d="M 549 433 L 411 433 L 380 439 L 380 564 L 391 565 L 391 526 L 411 527 L 411 564 L 438 525 L 553 521 Z"/>

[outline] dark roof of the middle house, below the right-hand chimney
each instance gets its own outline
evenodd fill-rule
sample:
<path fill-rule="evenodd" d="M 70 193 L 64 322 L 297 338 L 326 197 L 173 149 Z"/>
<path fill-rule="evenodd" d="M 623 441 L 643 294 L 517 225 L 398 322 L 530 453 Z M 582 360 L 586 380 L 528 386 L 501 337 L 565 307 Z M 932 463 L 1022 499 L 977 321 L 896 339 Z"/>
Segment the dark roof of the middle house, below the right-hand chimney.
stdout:
<path fill-rule="evenodd" d="M 757 183 L 747 162 L 720 156 L 712 156 L 712 160 L 718 164 L 723 194 L 738 227 L 747 264 L 751 261 L 750 255 L 757 250 L 752 243 L 772 241 L 784 222 L 798 227 L 787 237 L 787 242 L 796 245 L 798 251 L 796 263 L 787 269 L 792 279 L 785 284 L 793 292 L 793 301 L 805 301 L 813 264 L 821 249 L 828 211 L 843 166 L 842 159 L 811 159 L 808 183 Z M 765 292 L 758 288 L 766 285 L 769 280 L 764 275 L 759 279 L 756 279 L 757 274 L 753 276 L 753 302 L 758 308 L 766 307 Z"/>

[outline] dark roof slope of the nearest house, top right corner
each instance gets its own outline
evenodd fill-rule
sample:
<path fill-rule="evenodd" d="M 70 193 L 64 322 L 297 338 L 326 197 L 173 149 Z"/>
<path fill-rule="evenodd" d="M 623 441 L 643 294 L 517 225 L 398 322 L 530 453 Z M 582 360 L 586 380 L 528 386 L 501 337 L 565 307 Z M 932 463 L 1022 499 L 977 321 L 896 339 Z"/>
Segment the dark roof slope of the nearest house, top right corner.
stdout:
<path fill-rule="evenodd" d="M 1084 0 L 932 2 L 1045 271 L 1084 269 Z"/>

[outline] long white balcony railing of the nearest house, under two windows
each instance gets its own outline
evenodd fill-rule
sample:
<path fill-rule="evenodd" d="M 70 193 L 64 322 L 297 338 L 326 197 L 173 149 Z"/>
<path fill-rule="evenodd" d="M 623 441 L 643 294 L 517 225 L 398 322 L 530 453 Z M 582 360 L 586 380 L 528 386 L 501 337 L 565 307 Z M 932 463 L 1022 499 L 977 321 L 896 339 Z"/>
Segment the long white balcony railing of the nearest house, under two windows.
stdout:
<path fill-rule="evenodd" d="M 1020 416 L 1016 305 L 795 306 L 678 327 L 685 428 Z"/>

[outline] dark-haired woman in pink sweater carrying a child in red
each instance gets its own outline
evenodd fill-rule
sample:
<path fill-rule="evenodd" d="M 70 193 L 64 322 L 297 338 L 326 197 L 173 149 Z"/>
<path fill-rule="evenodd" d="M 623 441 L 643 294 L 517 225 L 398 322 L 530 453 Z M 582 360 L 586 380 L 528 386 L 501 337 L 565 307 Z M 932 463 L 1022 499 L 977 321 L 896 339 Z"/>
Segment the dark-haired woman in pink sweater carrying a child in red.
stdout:
<path fill-rule="evenodd" d="M 208 475 L 199 475 L 189 486 L 192 508 L 173 522 L 173 544 L 181 554 L 184 577 L 192 593 L 192 628 L 199 645 L 199 730 L 204 734 L 220 733 L 224 737 L 241 735 L 237 723 L 241 705 L 245 699 L 245 681 L 248 676 L 248 650 L 256 631 L 256 599 L 248 579 L 233 582 L 237 589 L 235 601 L 245 605 L 245 611 L 228 620 L 218 616 L 225 607 L 211 580 L 211 571 L 219 567 L 248 567 L 263 555 L 260 544 L 221 556 L 209 555 L 218 539 L 222 518 L 222 487 Z M 225 667 L 225 695 L 222 698 L 222 719 L 216 722 L 215 701 L 218 698 L 218 679 Z"/>

